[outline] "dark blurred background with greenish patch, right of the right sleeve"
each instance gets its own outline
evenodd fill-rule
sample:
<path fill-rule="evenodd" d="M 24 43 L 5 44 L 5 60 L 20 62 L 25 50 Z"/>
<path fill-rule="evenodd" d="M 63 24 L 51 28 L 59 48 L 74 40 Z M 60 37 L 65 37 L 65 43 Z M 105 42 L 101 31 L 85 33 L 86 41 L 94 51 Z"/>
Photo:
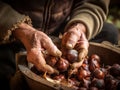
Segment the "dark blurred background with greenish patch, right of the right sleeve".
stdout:
<path fill-rule="evenodd" d="M 113 23 L 115 27 L 118 28 L 119 31 L 119 42 L 120 45 L 120 1 L 119 0 L 111 0 L 109 6 L 109 15 L 107 22 Z"/>

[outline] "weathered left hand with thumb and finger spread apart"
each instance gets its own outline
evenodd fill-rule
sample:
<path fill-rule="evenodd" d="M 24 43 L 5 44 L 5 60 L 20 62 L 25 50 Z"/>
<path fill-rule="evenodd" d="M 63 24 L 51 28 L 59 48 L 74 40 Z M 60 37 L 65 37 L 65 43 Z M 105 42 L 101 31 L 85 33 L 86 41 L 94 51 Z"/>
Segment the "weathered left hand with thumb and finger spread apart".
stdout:
<path fill-rule="evenodd" d="M 19 28 L 13 34 L 24 44 L 29 62 L 33 63 L 38 70 L 49 74 L 56 73 L 55 69 L 46 64 L 42 51 L 46 50 L 53 56 L 61 56 L 61 52 L 45 33 L 23 23 L 19 25 Z"/>

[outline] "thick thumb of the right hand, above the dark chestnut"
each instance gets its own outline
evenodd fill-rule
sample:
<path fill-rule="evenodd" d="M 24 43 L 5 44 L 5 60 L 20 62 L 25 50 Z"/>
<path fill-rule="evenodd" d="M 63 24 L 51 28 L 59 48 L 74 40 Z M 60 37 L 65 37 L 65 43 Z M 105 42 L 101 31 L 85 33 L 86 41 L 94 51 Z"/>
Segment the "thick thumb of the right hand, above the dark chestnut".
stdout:
<path fill-rule="evenodd" d="M 70 30 L 63 35 L 62 45 L 68 49 L 74 48 L 77 41 L 80 38 L 80 32 L 78 30 Z"/>

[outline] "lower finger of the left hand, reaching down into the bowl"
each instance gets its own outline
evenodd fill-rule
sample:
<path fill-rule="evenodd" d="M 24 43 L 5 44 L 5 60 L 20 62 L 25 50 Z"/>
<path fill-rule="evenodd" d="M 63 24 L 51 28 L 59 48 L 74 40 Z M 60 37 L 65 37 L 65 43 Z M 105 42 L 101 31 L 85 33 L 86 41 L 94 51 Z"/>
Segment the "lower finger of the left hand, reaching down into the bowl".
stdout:
<path fill-rule="evenodd" d="M 27 54 L 27 60 L 35 65 L 39 71 L 47 72 L 49 74 L 58 73 L 57 70 L 46 64 L 46 61 L 37 48 L 31 49 Z"/>

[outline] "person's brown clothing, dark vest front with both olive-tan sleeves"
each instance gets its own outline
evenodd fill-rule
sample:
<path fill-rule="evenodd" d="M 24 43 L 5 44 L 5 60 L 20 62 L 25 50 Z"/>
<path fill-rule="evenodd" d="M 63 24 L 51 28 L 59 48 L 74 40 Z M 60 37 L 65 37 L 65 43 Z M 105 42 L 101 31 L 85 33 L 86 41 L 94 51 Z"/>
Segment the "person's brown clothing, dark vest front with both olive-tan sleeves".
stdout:
<path fill-rule="evenodd" d="M 109 0 L 0 0 L 0 44 L 14 40 L 12 31 L 25 22 L 50 35 L 63 22 L 86 26 L 86 37 L 96 36 L 107 18 Z"/>

